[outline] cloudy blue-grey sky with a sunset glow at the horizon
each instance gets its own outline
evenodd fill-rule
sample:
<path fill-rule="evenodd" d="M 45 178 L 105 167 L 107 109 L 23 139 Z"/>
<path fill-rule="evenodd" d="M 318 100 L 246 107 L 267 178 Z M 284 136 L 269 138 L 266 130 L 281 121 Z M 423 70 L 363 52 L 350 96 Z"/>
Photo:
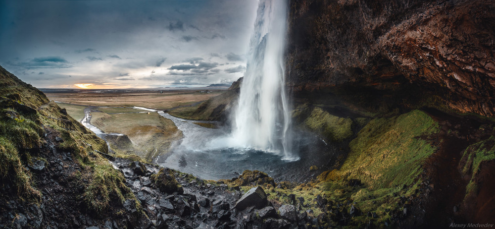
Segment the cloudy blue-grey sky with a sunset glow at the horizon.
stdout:
<path fill-rule="evenodd" d="M 0 0 L 0 65 L 39 88 L 232 83 L 257 0 Z"/>

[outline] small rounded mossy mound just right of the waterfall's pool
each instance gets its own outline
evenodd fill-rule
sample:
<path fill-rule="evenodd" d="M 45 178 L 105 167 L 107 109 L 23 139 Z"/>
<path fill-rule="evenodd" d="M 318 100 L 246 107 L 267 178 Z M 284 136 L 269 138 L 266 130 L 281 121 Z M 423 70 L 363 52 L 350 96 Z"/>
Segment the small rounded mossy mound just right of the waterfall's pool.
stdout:
<path fill-rule="evenodd" d="M 321 133 L 325 139 L 342 142 L 352 136 L 352 120 L 338 117 L 316 107 L 304 120 L 311 130 Z"/>

